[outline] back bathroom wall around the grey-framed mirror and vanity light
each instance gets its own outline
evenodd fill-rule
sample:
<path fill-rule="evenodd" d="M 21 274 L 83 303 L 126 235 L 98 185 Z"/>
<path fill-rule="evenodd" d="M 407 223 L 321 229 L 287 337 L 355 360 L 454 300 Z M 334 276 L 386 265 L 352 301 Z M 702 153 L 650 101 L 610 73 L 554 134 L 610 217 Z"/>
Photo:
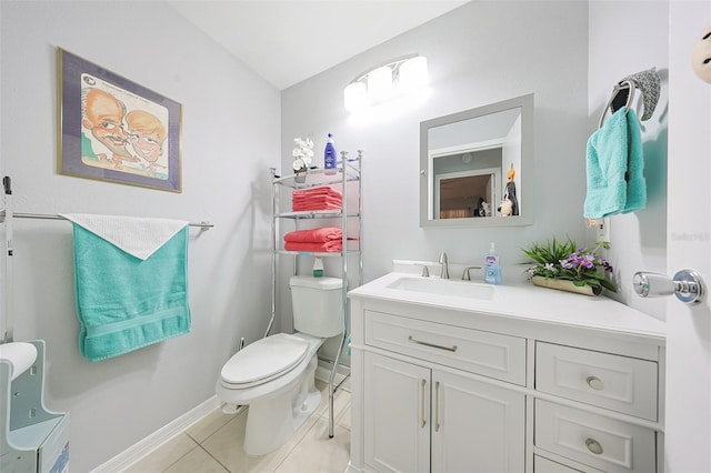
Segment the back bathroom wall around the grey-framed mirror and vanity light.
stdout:
<path fill-rule="evenodd" d="M 358 34 L 359 28 L 343 26 L 336 34 Z M 349 117 L 343 87 L 369 68 L 413 52 L 428 58 L 429 98 L 390 114 L 379 111 L 368 122 Z M 535 95 L 534 170 L 524 178 L 527 195 L 535 199 L 528 207 L 534 223 L 421 229 L 420 122 L 527 93 Z M 502 264 L 510 265 L 534 241 L 570 235 L 582 242 L 591 232 L 582 219 L 588 119 L 588 3 L 475 1 L 284 90 L 281 165 L 289 170 L 293 138 L 308 133 L 319 154 L 328 132 L 339 151 L 364 150 L 365 281 L 387 273 L 392 259 L 437 261 L 441 251 L 450 262 L 482 263 L 492 241 Z M 510 269 L 504 281 L 520 280 L 523 270 Z"/>

